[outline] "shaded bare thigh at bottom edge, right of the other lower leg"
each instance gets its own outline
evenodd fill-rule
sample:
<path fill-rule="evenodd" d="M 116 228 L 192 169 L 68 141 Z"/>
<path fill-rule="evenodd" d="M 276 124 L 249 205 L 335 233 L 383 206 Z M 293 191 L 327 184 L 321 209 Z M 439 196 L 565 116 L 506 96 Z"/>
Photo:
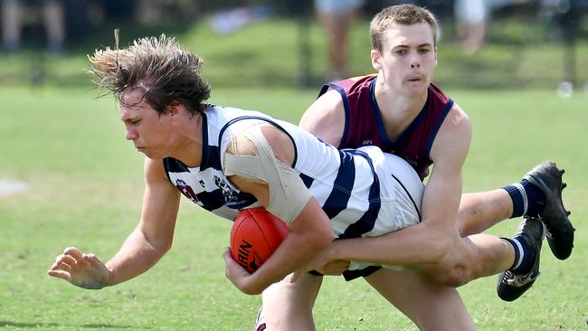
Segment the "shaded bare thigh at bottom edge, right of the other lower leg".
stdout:
<path fill-rule="evenodd" d="M 422 330 L 475 330 L 457 289 L 432 283 L 416 271 L 381 269 L 365 278 Z"/>

